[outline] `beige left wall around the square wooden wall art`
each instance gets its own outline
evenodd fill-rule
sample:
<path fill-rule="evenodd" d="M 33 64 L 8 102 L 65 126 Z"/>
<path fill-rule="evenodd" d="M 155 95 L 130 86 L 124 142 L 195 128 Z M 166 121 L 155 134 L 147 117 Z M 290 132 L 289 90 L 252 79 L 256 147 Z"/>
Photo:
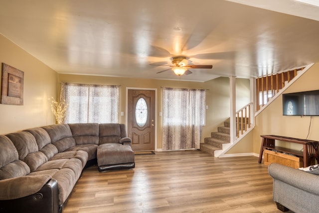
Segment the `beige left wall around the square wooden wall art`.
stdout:
<path fill-rule="evenodd" d="M 57 73 L 0 34 L 0 62 L 24 72 L 23 106 L 0 104 L 0 134 L 55 123 Z M 1 69 L 2 76 L 2 69 Z"/>

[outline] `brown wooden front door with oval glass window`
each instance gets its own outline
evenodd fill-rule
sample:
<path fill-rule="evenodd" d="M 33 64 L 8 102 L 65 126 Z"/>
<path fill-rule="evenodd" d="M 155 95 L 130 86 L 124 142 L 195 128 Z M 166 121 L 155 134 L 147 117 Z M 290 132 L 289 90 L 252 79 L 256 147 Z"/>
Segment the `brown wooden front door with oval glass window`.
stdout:
<path fill-rule="evenodd" d="M 128 137 L 134 151 L 155 150 L 155 90 L 128 90 Z"/>

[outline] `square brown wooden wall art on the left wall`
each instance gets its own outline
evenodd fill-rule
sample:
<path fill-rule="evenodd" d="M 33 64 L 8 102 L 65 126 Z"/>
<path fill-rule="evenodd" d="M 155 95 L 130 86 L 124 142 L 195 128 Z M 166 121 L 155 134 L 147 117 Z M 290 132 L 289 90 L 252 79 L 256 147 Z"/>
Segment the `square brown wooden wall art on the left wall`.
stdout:
<path fill-rule="evenodd" d="M 2 63 L 1 104 L 23 105 L 24 72 Z"/>

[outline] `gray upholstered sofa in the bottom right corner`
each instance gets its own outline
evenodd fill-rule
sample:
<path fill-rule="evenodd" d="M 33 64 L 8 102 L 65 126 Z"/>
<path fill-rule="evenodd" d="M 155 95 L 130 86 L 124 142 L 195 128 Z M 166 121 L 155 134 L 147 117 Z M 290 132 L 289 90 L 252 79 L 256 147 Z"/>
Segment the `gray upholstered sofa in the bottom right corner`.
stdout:
<path fill-rule="evenodd" d="M 269 165 L 268 172 L 274 180 L 273 199 L 282 212 L 318 213 L 319 169 L 301 169 L 304 171 L 281 164 Z"/>

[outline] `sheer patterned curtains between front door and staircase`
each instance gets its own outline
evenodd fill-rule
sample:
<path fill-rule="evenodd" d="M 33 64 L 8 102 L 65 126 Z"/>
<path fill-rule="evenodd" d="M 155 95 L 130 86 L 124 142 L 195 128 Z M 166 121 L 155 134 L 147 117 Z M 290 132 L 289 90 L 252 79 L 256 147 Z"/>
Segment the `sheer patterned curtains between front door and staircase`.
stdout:
<path fill-rule="evenodd" d="M 163 150 L 199 149 L 206 90 L 163 88 Z"/>

